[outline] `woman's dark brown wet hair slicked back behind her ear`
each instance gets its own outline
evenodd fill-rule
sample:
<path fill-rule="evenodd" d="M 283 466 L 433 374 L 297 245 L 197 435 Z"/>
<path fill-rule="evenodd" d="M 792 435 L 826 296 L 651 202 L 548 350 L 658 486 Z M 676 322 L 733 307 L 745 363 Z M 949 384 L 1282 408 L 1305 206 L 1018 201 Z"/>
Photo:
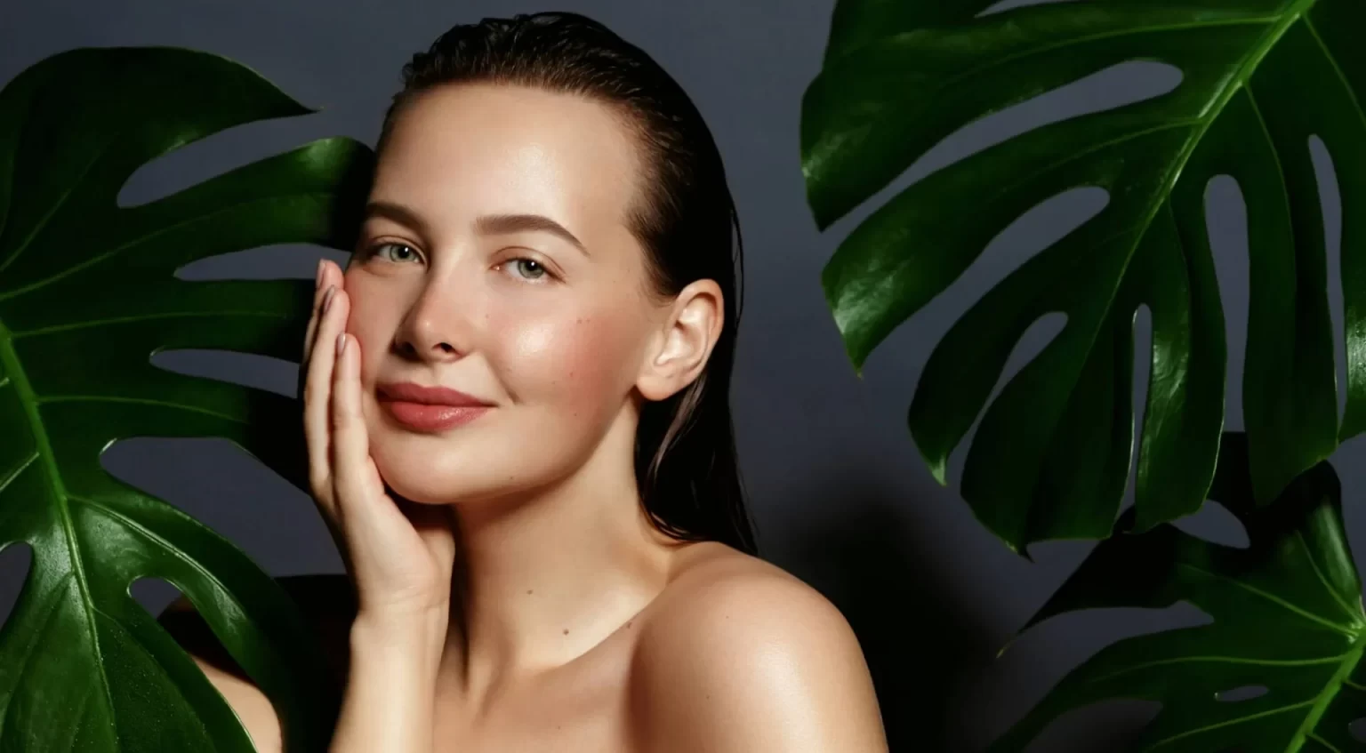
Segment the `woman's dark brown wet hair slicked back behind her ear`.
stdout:
<path fill-rule="evenodd" d="M 642 407 L 635 436 L 641 499 L 654 525 L 675 538 L 755 553 L 729 406 L 743 242 L 721 154 L 702 115 L 649 55 L 593 19 L 570 12 L 486 18 L 451 27 L 403 67 L 403 89 L 385 113 L 378 149 L 415 94 L 449 83 L 579 94 L 626 116 L 647 165 L 630 228 L 645 249 L 652 287 L 676 295 L 710 279 L 725 299 L 721 335 L 703 372 L 673 396 Z"/>

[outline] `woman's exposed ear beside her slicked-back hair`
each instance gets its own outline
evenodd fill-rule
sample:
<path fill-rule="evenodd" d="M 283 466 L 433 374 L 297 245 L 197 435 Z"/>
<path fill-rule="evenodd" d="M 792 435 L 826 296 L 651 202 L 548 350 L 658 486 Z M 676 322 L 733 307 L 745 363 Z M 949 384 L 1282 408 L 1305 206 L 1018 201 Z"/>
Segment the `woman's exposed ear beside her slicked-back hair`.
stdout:
<path fill-rule="evenodd" d="M 635 381 L 641 395 L 663 400 L 691 384 L 706 368 L 724 318 L 724 298 L 716 282 L 695 280 L 679 291 L 645 354 Z"/>

